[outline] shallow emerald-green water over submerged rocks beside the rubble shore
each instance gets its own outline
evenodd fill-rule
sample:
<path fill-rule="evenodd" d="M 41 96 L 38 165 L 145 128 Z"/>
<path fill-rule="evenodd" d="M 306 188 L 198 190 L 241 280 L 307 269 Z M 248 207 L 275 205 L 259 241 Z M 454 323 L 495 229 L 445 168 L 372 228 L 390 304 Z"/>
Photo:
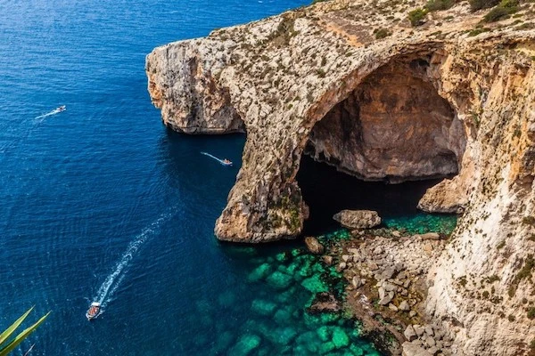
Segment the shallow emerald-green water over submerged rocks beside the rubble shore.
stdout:
<path fill-rule="evenodd" d="M 449 233 L 456 217 L 446 214 L 416 214 L 388 219 L 389 228 L 408 233 Z M 342 229 L 318 237 L 325 245 L 350 239 Z M 195 303 L 199 322 L 213 327 L 210 354 L 228 355 L 380 355 L 361 335 L 358 320 L 349 313 L 308 312 L 317 293 L 331 292 L 344 298 L 345 280 L 320 256 L 311 255 L 300 241 L 243 247 L 222 244 L 226 255 L 239 261 L 244 271 L 239 290 Z M 218 320 L 221 310 L 233 309 L 235 320 Z M 229 329 L 229 325 L 232 328 Z M 200 341 L 203 343 L 202 338 Z"/>

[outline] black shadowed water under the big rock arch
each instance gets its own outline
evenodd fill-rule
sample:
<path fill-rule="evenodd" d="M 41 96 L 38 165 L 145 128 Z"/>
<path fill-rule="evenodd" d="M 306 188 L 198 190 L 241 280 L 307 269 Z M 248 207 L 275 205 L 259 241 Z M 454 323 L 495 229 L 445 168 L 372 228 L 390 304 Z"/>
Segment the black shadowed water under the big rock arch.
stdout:
<path fill-rule="evenodd" d="M 440 182 L 440 179 L 400 184 L 365 182 L 338 172 L 333 166 L 303 156 L 297 180 L 310 209 L 305 234 L 316 235 L 339 228 L 340 225 L 333 220 L 333 214 L 342 209 L 375 210 L 386 222 L 424 215 L 448 216 L 424 214 L 416 208 L 425 190 Z"/>

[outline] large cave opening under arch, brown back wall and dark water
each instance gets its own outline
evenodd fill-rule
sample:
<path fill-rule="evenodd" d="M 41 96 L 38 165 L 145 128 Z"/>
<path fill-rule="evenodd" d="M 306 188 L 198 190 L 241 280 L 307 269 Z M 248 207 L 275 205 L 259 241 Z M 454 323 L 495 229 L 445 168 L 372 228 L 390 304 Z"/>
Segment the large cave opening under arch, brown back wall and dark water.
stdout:
<path fill-rule="evenodd" d="M 425 190 L 458 174 L 464 125 L 432 71 L 431 57 L 392 60 L 316 122 L 297 175 L 310 210 L 305 234 L 339 226 L 332 216 L 342 209 L 422 214 Z"/>

